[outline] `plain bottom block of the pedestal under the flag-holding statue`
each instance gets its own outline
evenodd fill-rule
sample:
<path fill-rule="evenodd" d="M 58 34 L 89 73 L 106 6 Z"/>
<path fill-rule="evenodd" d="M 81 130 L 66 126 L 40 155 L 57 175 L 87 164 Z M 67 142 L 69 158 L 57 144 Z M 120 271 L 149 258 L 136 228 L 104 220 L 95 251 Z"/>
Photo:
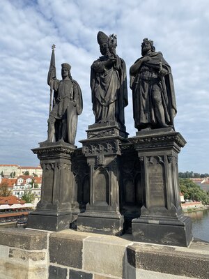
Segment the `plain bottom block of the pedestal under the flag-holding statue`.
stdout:
<path fill-rule="evenodd" d="M 72 214 L 69 211 L 60 213 L 34 211 L 29 214 L 27 227 L 59 232 L 63 229 L 69 229 L 71 221 Z"/>

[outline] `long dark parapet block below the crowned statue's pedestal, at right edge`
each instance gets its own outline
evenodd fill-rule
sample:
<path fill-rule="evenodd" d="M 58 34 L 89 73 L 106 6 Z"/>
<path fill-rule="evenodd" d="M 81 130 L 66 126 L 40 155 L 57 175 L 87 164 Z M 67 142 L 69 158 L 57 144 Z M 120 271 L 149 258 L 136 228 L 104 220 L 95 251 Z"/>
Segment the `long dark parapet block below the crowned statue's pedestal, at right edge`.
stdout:
<path fill-rule="evenodd" d="M 208 251 L 134 243 L 127 247 L 127 262 L 136 269 L 192 278 L 209 278 Z"/>

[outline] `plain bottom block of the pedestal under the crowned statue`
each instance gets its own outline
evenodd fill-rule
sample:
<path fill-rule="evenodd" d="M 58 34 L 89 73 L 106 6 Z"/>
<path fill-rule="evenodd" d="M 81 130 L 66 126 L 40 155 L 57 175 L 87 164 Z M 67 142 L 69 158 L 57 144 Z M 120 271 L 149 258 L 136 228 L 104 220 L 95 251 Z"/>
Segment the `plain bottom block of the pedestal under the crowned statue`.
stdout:
<path fill-rule="evenodd" d="M 133 241 L 171 246 L 189 246 L 192 241 L 192 221 L 180 218 L 137 218 L 132 220 Z"/>

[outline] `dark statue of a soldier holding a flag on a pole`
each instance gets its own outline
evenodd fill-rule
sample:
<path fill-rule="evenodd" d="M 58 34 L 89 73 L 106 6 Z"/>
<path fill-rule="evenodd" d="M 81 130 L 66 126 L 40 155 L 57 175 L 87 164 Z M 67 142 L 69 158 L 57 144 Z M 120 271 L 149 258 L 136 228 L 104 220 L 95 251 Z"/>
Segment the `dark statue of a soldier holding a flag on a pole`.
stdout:
<path fill-rule="evenodd" d="M 51 93 L 54 91 L 53 108 L 49 112 L 47 142 L 67 142 L 75 144 L 77 116 L 82 113 L 82 91 L 79 84 L 72 80 L 71 66 L 61 65 L 62 80 L 56 79 L 54 49 L 48 73 Z M 51 104 L 50 100 L 50 104 Z"/>

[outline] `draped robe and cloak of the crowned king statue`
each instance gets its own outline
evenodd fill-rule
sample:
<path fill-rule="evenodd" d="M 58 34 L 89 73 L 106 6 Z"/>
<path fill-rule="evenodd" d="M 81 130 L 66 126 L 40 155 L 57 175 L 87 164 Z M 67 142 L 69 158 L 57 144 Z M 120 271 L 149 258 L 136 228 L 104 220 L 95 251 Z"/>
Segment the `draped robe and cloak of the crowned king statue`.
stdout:
<path fill-rule="evenodd" d="M 157 127 L 155 107 L 153 103 L 153 86 L 158 86 L 161 92 L 165 122 L 173 126 L 176 116 L 176 98 L 173 86 L 171 68 L 164 60 L 161 52 L 148 54 L 150 60 L 142 62 L 136 75 L 130 74 L 130 88 L 132 89 L 135 128 L 141 130 L 148 126 Z M 142 58 L 142 57 L 141 57 Z M 139 58 L 139 59 L 141 59 Z M 139 59 L 137 61 L 139 61 Z M 135 63 L 137 63 L 137 61 Z M 160 76 L 159 66 L 167 70 L 167 75 Z M 155 126 L 156 125 L 156 126 Z"/>

